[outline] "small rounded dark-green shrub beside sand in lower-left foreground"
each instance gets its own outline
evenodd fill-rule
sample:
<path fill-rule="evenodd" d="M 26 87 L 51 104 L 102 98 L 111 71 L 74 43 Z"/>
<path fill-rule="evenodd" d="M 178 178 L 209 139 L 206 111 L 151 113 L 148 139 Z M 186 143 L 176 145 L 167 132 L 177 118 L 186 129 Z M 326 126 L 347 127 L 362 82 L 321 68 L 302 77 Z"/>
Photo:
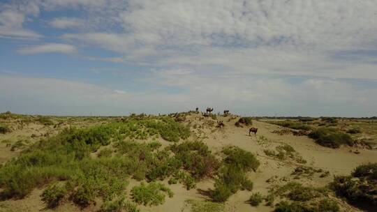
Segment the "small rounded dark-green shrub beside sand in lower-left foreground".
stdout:
<path fill-rule="evenodd" d="M 61 199 L 63 199 L 67 194 L 65 185 L 54 183 L 48 186 L 40 195 L 42 201 L 47 203 L 49 208 L 55 208 L 59 206 Z"/>

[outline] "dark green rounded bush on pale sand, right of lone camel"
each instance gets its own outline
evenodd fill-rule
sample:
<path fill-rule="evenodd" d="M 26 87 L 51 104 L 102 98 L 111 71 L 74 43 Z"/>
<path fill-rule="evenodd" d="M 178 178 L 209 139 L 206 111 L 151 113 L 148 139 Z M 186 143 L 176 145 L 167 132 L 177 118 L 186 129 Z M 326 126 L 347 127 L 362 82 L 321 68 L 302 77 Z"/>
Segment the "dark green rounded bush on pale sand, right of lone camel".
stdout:
<path fill-rule="evenodd" d="M 318 128 L 309 134 L 321 146 L 339 148 L 341 145 L 353 146 L 354 141 L 346 133 L 335 128 Z"/>

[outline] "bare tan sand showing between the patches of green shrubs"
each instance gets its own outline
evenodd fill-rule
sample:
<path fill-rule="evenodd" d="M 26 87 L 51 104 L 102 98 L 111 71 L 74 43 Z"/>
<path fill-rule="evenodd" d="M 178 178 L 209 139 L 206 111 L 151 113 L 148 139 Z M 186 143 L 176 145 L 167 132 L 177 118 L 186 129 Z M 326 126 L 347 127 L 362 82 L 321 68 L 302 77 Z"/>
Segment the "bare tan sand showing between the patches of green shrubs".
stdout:
<path fill-rule="evenodd" d="M 237 121 L 237 119 L 230 120 L 230 117 L 219 117 L 219 120 L 222 120 L 225 123 L 225 128 L 216 128 L 216 121 L 213 121 L 209 117 L 204 118 L 199 114 L 194 114 L 186 118 L 186 122 L 190 122 L 191 126 L 196 125 L 193 127 L 195 135 L 203 139 L 203 141 L 215 153 L 221 151 L 223 146 L 235 145 L 256 154 L 258 160 L 260 160 L 260 167 L 257 172 L 249 173 L 249 178 L 253 181 L 254 185 L 252 192 L 267 194 L 269 186 L 293 181 L 291 173 L 295 167 L 300 166 L 300 164 L 292 160 L 281 161 L 271 158 L 266 156 L 263 151 L 265 149 L 274 149 L 281 144 L 289 144 L 290 146 L 293 146 L 295 151 L 297 151 L 297 154 L 307 161 L 306 166 L 314 167 L 316 169 L 321 168 L 330 172 L 330 176 L 325 178 L 319 178 L 318 175 L 314 175 L 295 180 L 300 181 L 305 185 L 324 186 L 332 181 L 334 175 L 348 175 L 355 167 L 357 167 L 357 165 L 366 162 L 377 162 L 377 151 L 359 149 L 360 154 L 355 154 L 350 152 L 350 148 L 348 147 L 329 149 L 319 146 L 306 136 L 274 134 L 272 131 L 280 127 L 263 121 L 253 121 L 253 127 L 258 128 L 258 133 L 257 135 L 249 136 L 249 128 L 237 128 L 235 126 L 235 121 Z M 43 130 L 43 126 L 29 126 L 28 128 L 24 128 L 17 132 L 0 135 L 0 141 L 3 139 L 15 140 L 19 137 L 28 137 L 36 131 L 35 129 L 38 129 L 40 134 L 43 134 L 48 130 Z M 163 144 L 165 146 L 167 142 L 163 142 Z M 6 147 L 5 144 L 0 144 L 0 163 L 17 156 L 17 153 L 17 151 L 9 151 L 9 147 Z M 273 180 L 267 183 L 267 179 Z M 128 194 L 133 185 L 138 185 L 138 183 L 139 182 L 131 180 L 130 185 L 128 185 Z M 163 205 L 140 206 L 140 209 L 141 211 L 154 212 L 182 211 L 186 199 L 208 199 L 205 195 L 205 191 L 213 188 L 213 183 L 214 182 L 211 179 L 207 179 L 198 183 L 197 189 L 192 190 L 186 190 L 181 184 L 169 185 L 175 193 L 174 197 L 166 197 L 165 204 Z M 34 192 L 25 199 L 10 199 L 0 202 L 0 211 L 49 211 L 49 209 L 45 209 L 45 205 L 40 201 L 39 196 L 41 192 L 42 189 L 38 189 L 34 190 Z M 252 192 L 239 191 L 235 195 L 232 195 L 228 202 L 226 202 L 227 211 L 273 211 L 269 206 L 260 205 L 258 207 L 253 207 L 248 204 L 246 201 L 249 199 Z M 343 211 L 358 211 L 343 202 L 340 202 L 340 204 L 342 205 Z M 91 206 L 83 211 L 96 211 L 98 209 L 98 206 Z M 80 209 L 71 203 L 66 203 L 59 206 L 55 211 L 80 211 Z"/>

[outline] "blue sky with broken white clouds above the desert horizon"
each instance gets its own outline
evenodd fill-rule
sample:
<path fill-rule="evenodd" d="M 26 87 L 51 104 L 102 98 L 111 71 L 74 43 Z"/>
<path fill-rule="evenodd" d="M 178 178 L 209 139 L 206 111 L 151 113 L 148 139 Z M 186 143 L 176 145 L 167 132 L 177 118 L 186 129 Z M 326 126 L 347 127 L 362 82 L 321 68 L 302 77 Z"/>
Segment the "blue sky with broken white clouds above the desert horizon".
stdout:
<path fill-rule="evenodd" d="M 376 0 L 0 0 L 0 112 L 376 116 Z"/>

